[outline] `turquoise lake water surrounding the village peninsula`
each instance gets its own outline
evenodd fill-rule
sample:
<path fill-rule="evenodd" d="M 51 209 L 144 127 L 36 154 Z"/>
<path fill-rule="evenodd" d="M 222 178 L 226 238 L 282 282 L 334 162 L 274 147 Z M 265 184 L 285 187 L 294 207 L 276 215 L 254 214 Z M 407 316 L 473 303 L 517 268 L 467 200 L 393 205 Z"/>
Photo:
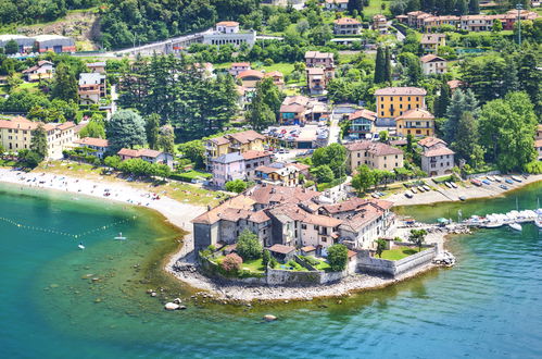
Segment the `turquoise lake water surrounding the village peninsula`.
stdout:
<path fill-rule="evenodd" d="M 532 209 L 537 197 L 542 183 L 502 199 L 406 211 L 431 221 L 458 209 L 503 212 L 516 198 Z M 532 224 L 455 236 L 455 268 L 340 305 L 189 302 L 166 312 L 147 288 L 190 293 L 155 270 L 179 234 L 152 212 L 0 185 L 0 218 L 2 358 L 542 357 L 542 231 Z M 128 240 L 113 240 L 118 232 Z M 263 323 L 265 313 L 279 320 Z"/>

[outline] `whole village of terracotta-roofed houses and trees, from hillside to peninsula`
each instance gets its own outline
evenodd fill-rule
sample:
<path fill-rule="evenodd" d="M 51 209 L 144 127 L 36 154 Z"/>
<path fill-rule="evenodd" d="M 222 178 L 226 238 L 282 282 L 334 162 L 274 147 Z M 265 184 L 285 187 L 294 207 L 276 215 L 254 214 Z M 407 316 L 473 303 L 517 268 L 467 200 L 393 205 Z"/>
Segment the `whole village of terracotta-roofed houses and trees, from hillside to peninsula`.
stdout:
<path fill-rule="evenodd" d="M 421 258 L 391 197 L 542 173 L 542 20 L 534 2 L 373 1 L 272 1 L 260 23 L 216 18 L 149 55 L 0 35 L 0 165 L 220 194 L 191 221 L 192 255 L 219 275 L 247 274 L 239 259 L 255 276 L 274 261 L 341 272 L 416 238 Z"/>

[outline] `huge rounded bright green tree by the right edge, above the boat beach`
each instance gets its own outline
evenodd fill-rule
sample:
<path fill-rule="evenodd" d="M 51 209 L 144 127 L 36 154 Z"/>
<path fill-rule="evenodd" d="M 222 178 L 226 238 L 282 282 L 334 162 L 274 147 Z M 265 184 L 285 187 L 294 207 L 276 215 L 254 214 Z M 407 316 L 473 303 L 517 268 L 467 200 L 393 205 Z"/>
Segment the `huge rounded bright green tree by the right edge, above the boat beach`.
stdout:
<path fill-rule="evenodd" d="M 480 111 L 480 141 L 503 172 L 521 170 L 535 158 L 534 108 L 526 92 L 509 92 Z"/>

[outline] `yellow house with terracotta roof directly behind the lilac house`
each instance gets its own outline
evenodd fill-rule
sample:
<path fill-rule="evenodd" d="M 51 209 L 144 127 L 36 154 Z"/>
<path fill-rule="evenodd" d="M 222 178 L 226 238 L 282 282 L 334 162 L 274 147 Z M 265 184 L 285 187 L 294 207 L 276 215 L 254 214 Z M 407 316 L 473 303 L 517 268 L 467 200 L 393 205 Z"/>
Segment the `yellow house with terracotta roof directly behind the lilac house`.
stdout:
<path fill-rule="evenodd" d="M 211 159 L 231 152 L 263 151 L 264 143 L 265 136 L 252 129 L 207 139 L 205 143 L 207 164 L 211 163 Z"/>

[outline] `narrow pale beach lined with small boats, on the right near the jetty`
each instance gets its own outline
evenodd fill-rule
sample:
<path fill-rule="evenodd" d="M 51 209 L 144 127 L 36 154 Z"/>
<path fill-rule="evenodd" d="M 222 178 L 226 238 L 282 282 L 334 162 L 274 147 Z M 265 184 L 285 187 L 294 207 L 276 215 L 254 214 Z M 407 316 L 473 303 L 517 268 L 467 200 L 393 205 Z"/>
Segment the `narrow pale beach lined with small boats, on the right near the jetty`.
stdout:
<path fill-rule="evenodd" d="M 507 178 L 508 176 L 502 176 Z M 458 186 L 458 188 L 448 188 L 441 186 L 433 186 L 438 188 L 437 190 L 430 190 L 426 193 L 418 191 L 413 198 L 406 198 L 405 191 L 393 194 L 386 197 L 387 200 L 391 200 L 395 206 L 413 206 L 413 205 L 432 205 L 438 202 L 446 201 L 459 201 L 459 197 L 464 196 L 466 199 L 472 198 L 491 198 L 503 196 L 505 193 L 521 188 L 528 184 L 542 181 L 542 174 L 532 174 L 529 177 L 521 177 L 521 183 L 514 182 L 514 184 L 506 184 L 508 189 L 503 189 L 499 187 L 502 183 L 493 182 L 490 185 L 482 185 L 477 187 L 470 182 L 464 182 L 464 186 Z"/>

